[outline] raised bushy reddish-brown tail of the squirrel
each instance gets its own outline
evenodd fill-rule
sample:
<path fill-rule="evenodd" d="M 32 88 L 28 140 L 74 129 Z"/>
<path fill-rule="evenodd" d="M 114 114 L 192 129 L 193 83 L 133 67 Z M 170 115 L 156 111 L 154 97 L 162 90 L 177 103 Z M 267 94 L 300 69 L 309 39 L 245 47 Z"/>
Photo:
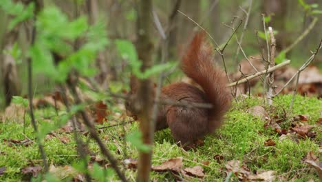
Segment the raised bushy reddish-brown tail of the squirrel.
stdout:
<path fill-rule="evenodd" d="M 209 132 L 219 127 L 231 103 L 231 95 L 226 88 L 227 78 L 222 70 L 215 68 L 213 56 L 213 47 L 205 40 L 205 32 L 198 32 L 181 63 L 182 71 L 202 87 L 208 101 L 213 105 L 209 112 Z"/>

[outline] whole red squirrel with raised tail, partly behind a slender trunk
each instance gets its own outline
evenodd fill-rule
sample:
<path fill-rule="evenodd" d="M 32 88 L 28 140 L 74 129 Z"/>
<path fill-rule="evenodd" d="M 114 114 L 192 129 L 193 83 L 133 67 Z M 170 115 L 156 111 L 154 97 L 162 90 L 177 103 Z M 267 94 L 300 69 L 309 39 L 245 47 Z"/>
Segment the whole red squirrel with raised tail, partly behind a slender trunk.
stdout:
<path fill-rule="evenodd" d="M 211 103 L 209 108 L 186 108 L 179 105 L 160 105 L 155 130 L 170 128 L 175 141 L 182 145 L 193 145 L 206 134 L 212 133 L 222 123 L 224 114 L 230 108 L 231 95 L 226 88 L 224 72 L 216 68 L 213 47 L 205 40 L 204 32 L 197 32 L 181 60 L 181 69 L 202 88 L 184 82 L 171 83 L 162 88 L 160 99 Z M 131 77 L 129 97 L 136 93 L 138 80 Z M 131 99 L 125 102 L 129 117 L 133 113 Z M 138 118 L 140 121 L 140 118 Z"/>

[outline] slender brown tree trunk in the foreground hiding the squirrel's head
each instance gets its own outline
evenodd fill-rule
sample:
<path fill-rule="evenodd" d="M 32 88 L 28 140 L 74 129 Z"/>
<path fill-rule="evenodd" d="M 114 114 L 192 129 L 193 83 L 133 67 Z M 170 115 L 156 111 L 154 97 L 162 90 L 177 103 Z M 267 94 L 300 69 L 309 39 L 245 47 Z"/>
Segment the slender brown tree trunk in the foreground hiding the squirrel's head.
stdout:
<path fill-rule="evenodd" d="M 140 0 L 138 4 L 138 42 L 136 49 L 138 58 L 142 61 L 142 71 L 151 67 L 153 43 L 151 42 L 152 32 L 152 1 Z M 153 108 L 152 82 L 150 79 L 140 80 L 138 93 L 136 95 L 135 104 L 140 119 L 140 130 L 142 132 L 143 143 L 153 145 L 154 128 L 151 125 L 151 109 Z M 149 173 L 151 170 L 152 151 L 142 152 L 139 154 L 138 176 L 137 181 L 149 181 Z"/>

